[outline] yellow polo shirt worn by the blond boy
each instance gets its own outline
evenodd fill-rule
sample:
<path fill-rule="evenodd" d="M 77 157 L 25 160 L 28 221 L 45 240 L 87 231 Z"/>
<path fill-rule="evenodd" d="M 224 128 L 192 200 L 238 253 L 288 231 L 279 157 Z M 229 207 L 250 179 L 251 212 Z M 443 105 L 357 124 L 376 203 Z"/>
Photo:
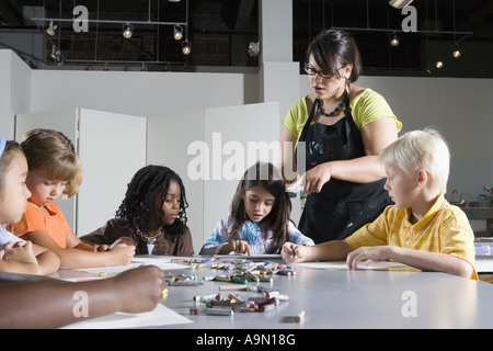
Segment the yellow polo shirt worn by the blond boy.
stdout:
<path fill-rule="evenodd" d="M 428 252 L 452 254 L 471 263 L 471 279 L 478 279 L 474 268 L 474 234 L 466 214 L 450 205 L 444 194 L 426 215 L 411 224 L 410 208 L 388 206 L 375 222 L 365 225 L 345 240 L 352 249 L 364 246 L 395 246 Z"/>

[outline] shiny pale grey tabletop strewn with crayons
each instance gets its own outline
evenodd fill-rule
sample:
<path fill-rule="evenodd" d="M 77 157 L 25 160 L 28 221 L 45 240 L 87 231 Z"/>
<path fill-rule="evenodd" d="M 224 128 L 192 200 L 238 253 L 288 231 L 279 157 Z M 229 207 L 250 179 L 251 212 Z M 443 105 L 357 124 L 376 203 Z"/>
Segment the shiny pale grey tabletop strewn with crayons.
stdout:
<path fill-rule="evenodd" d="M 295 275 L 273 274 L 272 282 L 249 282 L 234 284 L 210 281 L 214 275 L 229 275 L 237 271 L 213 269 L 210 262 L 196 268 L 190 262 L 171 262 L 170 257 L 136 257 L 134 263 L 124 268 L 107 268 L 107 272 L 137 267 L 140 263 L 161 267 L 165 276 L 184 274 L 196 276 L 198 285 L 168 284 L 168 294 L 161 304 L 191 322 L 168 324 L 158 328 L 180 329 L 334 329 L 334 328 L 493 328 L 493 286 L 438 272 L 421 272 L 408 267 L 374 265 L 347 270 L 344 262 L 316 262 L 294 264 Z M 190 260 L 190 258 L 187 259 Z M 265 261 L 283 262 L 278 258 L 251 259 L 250 263 Z M 164 263 L 163 263 L 164 262 Z M 171 264 L 171 265 L 170 265 Z M 96 276 L 98 270 L 66 270 L 54 278 Z M 108 276 L 110 276 L 108 275 Z M 205 282 L 203 279 L 207 278 Z M 85 279 L 85 278 L 84 278 Z M 250 291 L 237 290 L 250 287 Z M 255 287 L 278 291 L 287 295 L 287 302 L 279 302 L 272 310 L 256 313 L 233 313 L 232 316 L 206 314 L 206 304 L 194 302 L 194 296 L 229 293 L 244 301 L 262 298 Z M 223 291 L 229 287 L 233 291 Z M 305 318 L 295 320 L 302 309 Z M 197 313 L 197 314 L 196 314 Z"/>

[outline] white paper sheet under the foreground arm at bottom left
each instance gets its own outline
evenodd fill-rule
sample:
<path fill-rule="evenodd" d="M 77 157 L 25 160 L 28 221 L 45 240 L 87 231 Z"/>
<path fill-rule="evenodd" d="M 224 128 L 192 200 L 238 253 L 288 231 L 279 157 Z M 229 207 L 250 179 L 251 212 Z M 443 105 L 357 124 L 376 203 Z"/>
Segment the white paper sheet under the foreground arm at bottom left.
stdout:
<path fill-rule="evenodd" d="M 141 314 L 116 313 L 94 319 L 79 321 L 65 326 L 62 329 L 121 329 L 144 328 L 168 325 L 181 325 L 193 322 L 188 318 L 179 315 L 173 309 L 158 304 L 151 312 Z"/>

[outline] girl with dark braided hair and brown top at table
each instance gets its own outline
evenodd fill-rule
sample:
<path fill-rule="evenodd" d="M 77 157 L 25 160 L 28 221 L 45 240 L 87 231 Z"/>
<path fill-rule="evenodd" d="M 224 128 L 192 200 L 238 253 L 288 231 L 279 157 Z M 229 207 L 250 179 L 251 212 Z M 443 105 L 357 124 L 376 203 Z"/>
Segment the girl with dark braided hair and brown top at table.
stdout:
<path fill-rule="evenodd" d="M 128 184 L 113 219 L 83 236 L 82 241 L 105 251 L 116 240 L 136 244 L 136 254 L 192 256 L 186 226 L 188 206 L 179 174 L 163 166 L 146 166 Z"/>

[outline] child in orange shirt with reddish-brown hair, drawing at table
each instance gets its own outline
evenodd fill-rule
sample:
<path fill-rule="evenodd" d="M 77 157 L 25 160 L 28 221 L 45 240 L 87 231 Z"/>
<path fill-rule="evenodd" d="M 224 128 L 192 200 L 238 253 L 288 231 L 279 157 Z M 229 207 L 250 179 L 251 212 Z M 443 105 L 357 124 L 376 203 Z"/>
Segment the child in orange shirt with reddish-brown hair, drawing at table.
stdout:
<path fill-rule="evenodd" d="M 60 258 L 60 269 L 124 265 L 130 263 L 135 246 L 118 244 L 112 250 L 94 252 L 72 231 L 55 203 L 61 194 L 73 196 L 82 170 L 73 145 L 62 133 L 51 129 L 27 132 L 21 147 L 28 163 L 26 179 L 32 196 L 21 220 L 11 231 L 48 248 Z"/>

